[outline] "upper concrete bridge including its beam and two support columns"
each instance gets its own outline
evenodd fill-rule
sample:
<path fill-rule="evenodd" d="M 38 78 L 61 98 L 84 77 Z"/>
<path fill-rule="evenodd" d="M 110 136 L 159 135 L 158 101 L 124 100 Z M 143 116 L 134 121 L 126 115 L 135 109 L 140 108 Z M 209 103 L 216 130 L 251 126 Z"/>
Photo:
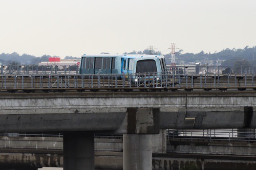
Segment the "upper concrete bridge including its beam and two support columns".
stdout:
<path fill-rule="evenodd" d="M 94 169 L 94 134 L 123 135 L 123 168 L 152 168 L 160 129 L 256 128 L 255 92 L 0 94 L 0 132 L 63 132 L 63 166 Z"/>

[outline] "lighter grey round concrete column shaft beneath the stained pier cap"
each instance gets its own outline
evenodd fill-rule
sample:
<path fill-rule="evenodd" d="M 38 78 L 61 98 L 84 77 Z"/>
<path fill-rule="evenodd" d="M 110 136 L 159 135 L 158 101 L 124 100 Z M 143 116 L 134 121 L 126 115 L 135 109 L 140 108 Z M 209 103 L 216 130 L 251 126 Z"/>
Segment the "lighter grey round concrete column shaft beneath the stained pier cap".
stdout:
<path fill-rule="evenodd" d="M 123 170 L 152 169 L 152 135 L 123 135 Z"/>

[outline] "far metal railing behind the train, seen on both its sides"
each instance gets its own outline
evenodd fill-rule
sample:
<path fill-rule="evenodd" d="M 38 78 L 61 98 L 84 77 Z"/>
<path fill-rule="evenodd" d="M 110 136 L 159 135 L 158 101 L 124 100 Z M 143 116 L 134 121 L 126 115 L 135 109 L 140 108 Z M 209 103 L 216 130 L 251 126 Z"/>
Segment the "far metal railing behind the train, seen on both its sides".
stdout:
<path fill-rule="evenodd" d="M 167 71 L 177 75 L 200 75 L 200 74 L 256 74 L 256 66 L 202 66 L 182 65 L 167 66 Z M 0 74 L 79 74 L 77 65 L 0 65 Z"/>

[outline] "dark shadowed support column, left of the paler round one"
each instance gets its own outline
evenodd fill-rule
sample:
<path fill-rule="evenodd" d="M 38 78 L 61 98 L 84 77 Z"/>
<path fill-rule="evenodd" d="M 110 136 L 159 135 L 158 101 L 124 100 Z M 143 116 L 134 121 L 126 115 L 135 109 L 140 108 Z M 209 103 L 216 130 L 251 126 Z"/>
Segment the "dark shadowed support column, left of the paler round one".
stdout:
<path fill-rule="evenodd" d="M 63 170 L 94 170 L 94 134 L 63 134 Z"/>

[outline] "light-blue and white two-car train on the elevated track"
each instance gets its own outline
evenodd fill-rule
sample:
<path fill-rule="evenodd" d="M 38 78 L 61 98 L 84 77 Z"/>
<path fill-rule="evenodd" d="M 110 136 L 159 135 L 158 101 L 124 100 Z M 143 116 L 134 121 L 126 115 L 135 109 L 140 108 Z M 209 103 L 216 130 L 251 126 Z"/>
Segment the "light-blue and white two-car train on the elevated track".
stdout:
<path fill-rule="evenodd" d="M 132 75 L 132 82 L 141 77 L 160 79 L 165 72 L 164 56 L 146 54 L 82 55 L 79 69 L 80 75 L 116 74 L 119 79 Z"/>

